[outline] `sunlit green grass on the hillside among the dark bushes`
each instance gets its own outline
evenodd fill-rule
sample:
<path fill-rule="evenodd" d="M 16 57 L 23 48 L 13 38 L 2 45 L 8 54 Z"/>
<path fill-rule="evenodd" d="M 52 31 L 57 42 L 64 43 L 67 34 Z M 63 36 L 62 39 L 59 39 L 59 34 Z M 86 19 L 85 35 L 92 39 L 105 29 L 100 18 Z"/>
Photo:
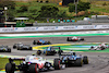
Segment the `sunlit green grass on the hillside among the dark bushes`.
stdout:
<path fill-rule="evenodd" d="M 55 0 L 50 0 L 51 2 L 52 1 L 55 1 Z M 70 19 L 75 19 L 75 20 L 83 20 L 83 17 L 85 16 L 85 15 L 83 15 L 83 16 L 78 16 L 78 17 L 74 17 L 73 15 L 75 14 L 74 12 L 72 12 L 72 13 L 70 13 L 69 12 L 69 7 L 61 7 L 61 5 L 59 5 L 58 4 L 58 2 L 59 2 L 60 0 L 56 0 L 55 2 L 57 2 L 57 3 L 39 3 L 39 2 L 36 2 L 36 1 L 32 1 L 32 2 L 15 2 L 16 3 L 16 5 L 15 5 L 15 8 L 16 8 L 16 10 L 19 10 L 20 9 L 20 7 L 22 7 L 22 5 L 27 5 L 28 7 L 28 11 L 29 10 L 33 10 L 33 9 L 36 9 L 37 11 L 39 11 L 40 10 L 40 8 L 43 7 L 43 5 L 55 5 L 55 7 L 57 7 L 57 8 L 59 8 L 59 10 L 60 10 L 60 12 L 61 11 L 65 11 L 66 12 L 66 17 L 70 17 Z M 84 1 L 84 2 L 87 2 L 88 0 L 81 0 L 81 1 Z M 105 5 L 105 7 L 102 7 L 102 3 L 104 2 L 106 2 L 107 3 L 107 5 Z M 98 5 L 100 5 L 100 7 L 98 7 Z M 14 15 L 15 16 L 21 16 L 21 15 L 23 15 L 23 16 L 25 16 L 25 15 L 28 15 L 29 14 L 29 12 L 24 12 L 24 13 L 15 13 Z M 94 2 L 92 2 L 92 4 L 90 4 L 90 9 L 88 10 L 88 11 L 90 11 L 90 12 L 95 12 L 95 14 L 96 13 L 99 13 L 99 12 L 106 12 L 106 13 L 109 13 L 109 2 L 108 1 L 94 1 Z M 95 15 L 94 14 L 94 15 Z M 92 14 L 89 14 L 88 15 L 88 17 L 90 17 L 90 15 Z M 57 20 L 57 19 L 56 19 Z M 36 20 L 35 20 L 36 21 Z M 34 22 L 33 20 L 31 20 L 29 22 Z M 45 20 L 37 20 L 37 22 L 38 23 L 40 23 L 40 22 L 46 22 L 46 19 Z"/>

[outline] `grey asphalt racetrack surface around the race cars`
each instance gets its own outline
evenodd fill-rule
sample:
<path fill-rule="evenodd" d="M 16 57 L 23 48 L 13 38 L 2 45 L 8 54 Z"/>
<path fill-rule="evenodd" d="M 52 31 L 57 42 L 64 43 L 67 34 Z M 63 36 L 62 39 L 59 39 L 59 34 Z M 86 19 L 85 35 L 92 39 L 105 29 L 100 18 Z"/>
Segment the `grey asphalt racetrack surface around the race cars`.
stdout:
<path fill-rule="evenodd" d="M 45 40 L 49 40 L 52 44 L 71 44 L 72 41 L 66 41 L 66 37 L 41 37 Z M 12 39 L 0 39 L 0 45 L 8 45 L 12 48 L 15 42 L 23 42 L 27 45 L 32 45 L 34 39 L 37 38 L 12 38 Z M 85 41 L 81 42 L 109 42 L 109 36 L 85 36 Z M 32 45 L 34 47 L 34 45 Z M 16 50 L 12 48 L 12 52 L 0 52 L 0 54 L 9 54 L 9 56 L 27 56 L 36 53 L 35 50 Z M 89 64 L 85 64 L 83 66 L 72 66 L 66 68 L 65 70 L 57 70 L 49 71 L 44 73 L 109 73 L 109 53 L 108 52 L 76 52 L 77 54 L 88 56 Z M 55 59 L 58 56 L 43 56 L 47 59 Z M 1 73 L 1 72 L 0 72 Z M 43 73 L 43 72 L 40 72 Z"/>

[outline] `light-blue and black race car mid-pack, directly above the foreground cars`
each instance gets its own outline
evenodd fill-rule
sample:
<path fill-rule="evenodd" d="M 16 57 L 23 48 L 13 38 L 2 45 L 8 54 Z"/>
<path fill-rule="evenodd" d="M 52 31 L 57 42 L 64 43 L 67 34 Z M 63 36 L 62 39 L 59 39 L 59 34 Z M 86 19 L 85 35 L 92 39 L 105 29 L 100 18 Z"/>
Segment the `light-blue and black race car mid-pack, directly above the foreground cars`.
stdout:
<path fill-rule="evenodd" d="M 59 49 L 58 51 L 56 51 L 56 49 Z M 62 50 L 60 50 L 60 47 L 47 47 L 45 50 L 37 50 L 37 54 L 46 54 L 46 56 L 55 56 L 56 53 L 59 52 L 63 52 Z"/>

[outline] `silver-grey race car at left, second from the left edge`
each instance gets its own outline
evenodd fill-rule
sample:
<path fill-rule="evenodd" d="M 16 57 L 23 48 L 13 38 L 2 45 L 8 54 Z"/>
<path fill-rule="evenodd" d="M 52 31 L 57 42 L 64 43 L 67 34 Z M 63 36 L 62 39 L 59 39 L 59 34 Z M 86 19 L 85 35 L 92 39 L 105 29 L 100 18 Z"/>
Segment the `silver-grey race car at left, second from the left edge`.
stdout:
<path fill-rule="evenodd" d="M 23 45 L 22 42 L 20 44 L 14 44 L 13 45 L 13 49 L 17 49 L 17 50 L 32 50 L 31 45 Z"/>

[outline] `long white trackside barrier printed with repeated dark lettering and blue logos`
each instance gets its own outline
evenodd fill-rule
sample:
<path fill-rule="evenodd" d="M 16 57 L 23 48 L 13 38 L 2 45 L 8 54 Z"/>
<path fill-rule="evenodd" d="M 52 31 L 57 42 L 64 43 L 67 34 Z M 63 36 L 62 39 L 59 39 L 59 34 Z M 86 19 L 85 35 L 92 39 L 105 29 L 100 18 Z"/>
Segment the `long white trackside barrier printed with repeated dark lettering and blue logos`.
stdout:
<path fill-rule="evenodd" d="M 0 33 L 13 32 L 46 32 L 46 31 L 78 31 L 78 29 L 105 29 L 109 25 L 72 25 L 72 26 L 40 26 L 40 27 L 2 27 Z"/>

